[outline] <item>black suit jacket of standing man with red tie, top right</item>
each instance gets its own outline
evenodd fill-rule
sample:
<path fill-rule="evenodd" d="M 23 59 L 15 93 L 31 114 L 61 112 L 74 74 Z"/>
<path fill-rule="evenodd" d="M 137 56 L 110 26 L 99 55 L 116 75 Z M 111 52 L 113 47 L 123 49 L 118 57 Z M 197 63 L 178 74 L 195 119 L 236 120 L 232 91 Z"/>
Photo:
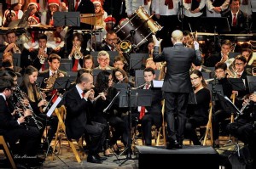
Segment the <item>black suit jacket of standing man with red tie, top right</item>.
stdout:
<path fill-rule="evenodd" d="M 246 13 L 239 10 L 236 17 L 236 26 L 232 25 L 232 14 L 228 10 L 226 13 L 222 14 L 223 17 L 227 17 L 230 23 L 230 33 L 248 33 L 249 31 L 249 18 Z"/>

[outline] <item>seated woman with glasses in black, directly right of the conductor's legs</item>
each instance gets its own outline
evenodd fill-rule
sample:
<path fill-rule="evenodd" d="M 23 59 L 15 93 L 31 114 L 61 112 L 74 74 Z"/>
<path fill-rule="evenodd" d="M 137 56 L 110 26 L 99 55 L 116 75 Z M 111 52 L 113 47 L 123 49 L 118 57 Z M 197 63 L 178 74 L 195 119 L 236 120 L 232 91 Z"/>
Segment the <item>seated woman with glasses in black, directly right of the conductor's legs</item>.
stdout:
<path fill-rule="evenodd" d="M 211 93 L 207 89 L 207 83 L 200 70 L 193 70 L 190 73 L 190 80 L 197 104 L 189 104 L 191 107 L 188 108 L 189 118 L 186 122 L 185 134 L 193 141 L 194 145 L 201 145 L 195 129 L 207 125 Z"/>

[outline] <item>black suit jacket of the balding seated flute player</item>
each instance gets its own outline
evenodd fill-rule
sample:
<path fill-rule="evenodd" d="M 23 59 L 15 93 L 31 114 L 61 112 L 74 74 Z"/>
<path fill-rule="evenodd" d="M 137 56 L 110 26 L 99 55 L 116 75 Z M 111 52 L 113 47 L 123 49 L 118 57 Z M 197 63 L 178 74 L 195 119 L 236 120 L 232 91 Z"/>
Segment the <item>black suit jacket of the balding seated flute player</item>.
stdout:
<path fill-rule="evenodd" d="M 90 100 L 80 98 L 76 87 L 70 89 L 65 96 L 65 106 L 67 107 L 66 132 L 67 138 L 79 139 L 85 131 L 87 125 L 87 111 L 92 108 Z"/>

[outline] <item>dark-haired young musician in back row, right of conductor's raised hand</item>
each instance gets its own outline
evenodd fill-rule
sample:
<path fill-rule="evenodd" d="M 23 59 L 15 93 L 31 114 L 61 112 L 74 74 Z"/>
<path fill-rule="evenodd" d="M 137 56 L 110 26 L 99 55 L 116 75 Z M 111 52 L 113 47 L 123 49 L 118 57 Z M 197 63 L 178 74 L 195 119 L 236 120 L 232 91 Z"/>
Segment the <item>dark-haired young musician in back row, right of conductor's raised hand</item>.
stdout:
<path fill-rule="evenodd" d="M 220 52 L 216 54 L 212 54 L 208 57 L 204 63 L 207 67 L 214 67 L 219 61 L 225 62 L 229 59 L 230 49 L 232 46 L 232 42 L 228 39 L 224 39 L 221 42 Z"/>

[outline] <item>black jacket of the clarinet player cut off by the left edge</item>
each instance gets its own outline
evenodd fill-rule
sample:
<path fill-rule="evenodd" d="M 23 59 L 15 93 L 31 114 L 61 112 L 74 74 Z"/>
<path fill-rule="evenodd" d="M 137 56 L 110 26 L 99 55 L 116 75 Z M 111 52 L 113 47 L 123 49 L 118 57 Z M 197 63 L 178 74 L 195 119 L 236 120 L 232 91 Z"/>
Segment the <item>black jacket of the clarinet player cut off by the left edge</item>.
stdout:
<path fill-rule="evenodd" d="M 20 127 L 20 125 L 18 124 L 18 121 L 16 121 L 11 115 L 3 96 L 1 95 L 0 105 L 0 135 L 4 135 L 9 130 Z"/>

